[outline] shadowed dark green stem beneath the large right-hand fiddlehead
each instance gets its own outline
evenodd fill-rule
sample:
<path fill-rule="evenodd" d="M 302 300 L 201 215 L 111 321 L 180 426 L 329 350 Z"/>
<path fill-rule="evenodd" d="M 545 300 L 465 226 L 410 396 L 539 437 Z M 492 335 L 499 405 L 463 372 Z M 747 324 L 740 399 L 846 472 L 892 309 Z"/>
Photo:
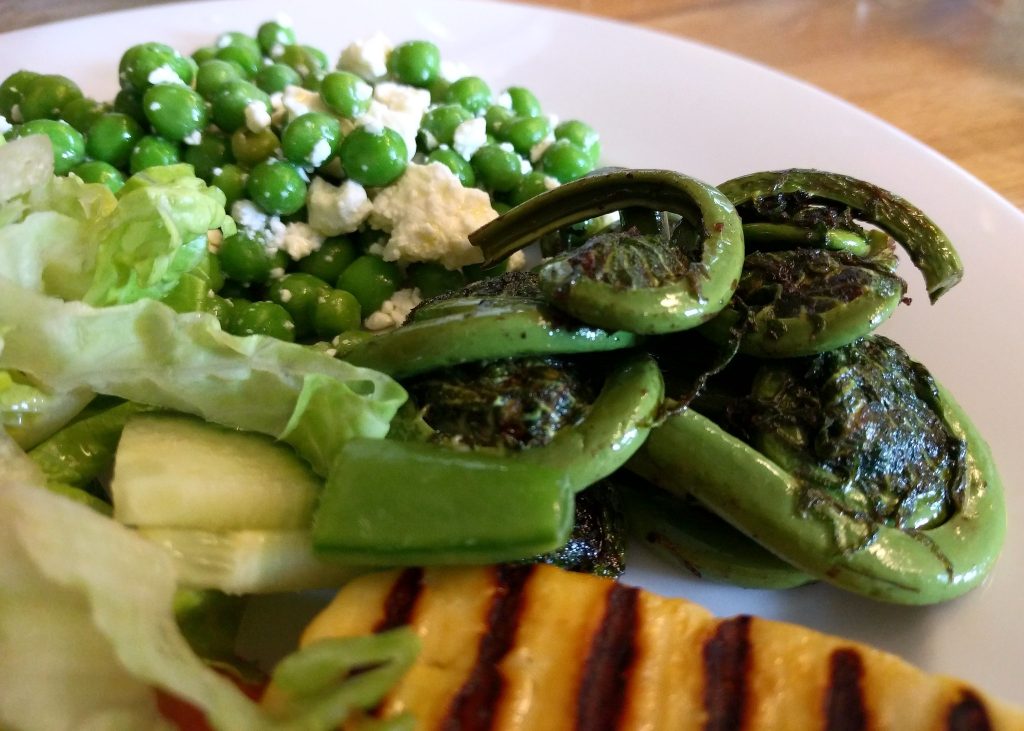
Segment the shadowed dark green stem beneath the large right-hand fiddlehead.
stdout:
<path fill-rule="evenodd" d="M 633 469 L 634 460 L 630 463 Z M 744 589 L 793 589 L 813 582 L 692 499 L 624 480 L 623 510 L 634 535 L 697 578 Z"/>

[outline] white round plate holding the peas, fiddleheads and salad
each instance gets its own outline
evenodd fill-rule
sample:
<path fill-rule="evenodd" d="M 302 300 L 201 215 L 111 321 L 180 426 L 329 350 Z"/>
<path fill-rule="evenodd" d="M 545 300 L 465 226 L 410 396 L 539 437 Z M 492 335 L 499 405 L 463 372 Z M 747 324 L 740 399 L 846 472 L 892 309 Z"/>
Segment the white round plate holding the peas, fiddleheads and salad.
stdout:
<path fill-rule="evenodd" d="M 255 32 L 284 3 L 165 5 L 0 36 L 0 78 L 18 68 L 62 73 L 113 98 L 117 62 L 133 43 L 190 52 L 225 30 Z M 616 164 L 674 168 L 710 182 L 741 173 L 818 167 L 867 178 L 915 202 L 943 226 L 966 278 L 935 306 L 909 272 L 914 304 L 889 335 L 957 396 L 995 454 L 1010 530 L 994 574 L 942 606 L 906 608 L 824 586 L 743 591 L 639 561 L 628 579 L 721 614 L 798 621 L 896 652 L 1024 704 L 1024 215 L 949 161 L 849 104 L 771 70 L 694 43 L 579 15 L 489 2 L 374 0 L 287 3 L 301 42 L 336 54 L 382 30 L 429 38 L 495 87 L 530 87 L 562 119 L 602 133 Z"/>

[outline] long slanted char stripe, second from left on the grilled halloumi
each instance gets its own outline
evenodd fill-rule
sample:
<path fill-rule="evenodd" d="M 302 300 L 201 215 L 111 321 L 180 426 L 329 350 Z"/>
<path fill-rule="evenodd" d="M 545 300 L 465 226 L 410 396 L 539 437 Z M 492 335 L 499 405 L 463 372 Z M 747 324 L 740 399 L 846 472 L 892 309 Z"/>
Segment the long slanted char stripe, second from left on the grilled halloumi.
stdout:
<path fill-rule="evenodd" d="M 452 700 L 440 728 L 482 731 L 492 727 L 504 685 L 498 665 L 515 644 L 524 590 L 534 568 L 534 565 L 504 565 L 495 569 L 495 597 L 487 612 L 487 629 L 480 640 L 476 663 Z"/>

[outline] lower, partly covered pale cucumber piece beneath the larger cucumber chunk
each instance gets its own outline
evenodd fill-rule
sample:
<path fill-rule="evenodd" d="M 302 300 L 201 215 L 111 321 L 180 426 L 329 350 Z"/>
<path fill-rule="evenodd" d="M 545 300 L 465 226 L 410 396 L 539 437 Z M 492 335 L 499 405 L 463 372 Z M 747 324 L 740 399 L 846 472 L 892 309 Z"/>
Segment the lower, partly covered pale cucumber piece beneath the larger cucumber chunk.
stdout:
<path fill-rule="evenodd" d="M 185 530 L 140 528 L 167 549 L 178 582 L 227 594 L 267 594 L 339 587 L 368 568 L 313 554 L 308 530 Z"/>

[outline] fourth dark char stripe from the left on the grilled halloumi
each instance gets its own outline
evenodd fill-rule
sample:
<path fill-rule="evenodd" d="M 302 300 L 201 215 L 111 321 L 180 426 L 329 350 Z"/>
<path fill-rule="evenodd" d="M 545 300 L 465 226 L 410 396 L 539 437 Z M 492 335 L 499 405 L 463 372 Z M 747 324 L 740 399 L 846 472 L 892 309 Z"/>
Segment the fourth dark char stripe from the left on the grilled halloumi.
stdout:
<path fill-rule="evenodd" d="M 738 731 L 746 716 L 751 671 L 751 617 L 719 622 L 703 646 L 705 731 Z"/>

